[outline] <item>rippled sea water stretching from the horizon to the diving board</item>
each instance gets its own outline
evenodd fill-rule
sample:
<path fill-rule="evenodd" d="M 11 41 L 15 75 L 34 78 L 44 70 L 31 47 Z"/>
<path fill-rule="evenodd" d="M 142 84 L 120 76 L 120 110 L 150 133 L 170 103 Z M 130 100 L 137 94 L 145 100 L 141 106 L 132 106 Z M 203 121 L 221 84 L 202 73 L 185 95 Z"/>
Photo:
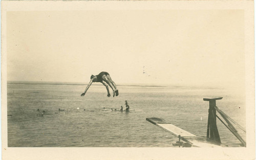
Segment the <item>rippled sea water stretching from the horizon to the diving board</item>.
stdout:
<path fill-rule="evenodd" d="M 85 87 L 9 82 L 8 147 L 173 147 L 178 138 L 145 119 L 163 118 L 206 136 L 207 97 L 223 97 L 219 109 L 245 128 L 245 94 L 230 88 L 123 85 L 118 97 L 109 98 L 103 85 L 93 84 L 80 97 Z M 135 111 L 103 110 L 119 109 L 125 100 Z M 218 120 L 217 125 L 222 143 L 240 143 Z"/>

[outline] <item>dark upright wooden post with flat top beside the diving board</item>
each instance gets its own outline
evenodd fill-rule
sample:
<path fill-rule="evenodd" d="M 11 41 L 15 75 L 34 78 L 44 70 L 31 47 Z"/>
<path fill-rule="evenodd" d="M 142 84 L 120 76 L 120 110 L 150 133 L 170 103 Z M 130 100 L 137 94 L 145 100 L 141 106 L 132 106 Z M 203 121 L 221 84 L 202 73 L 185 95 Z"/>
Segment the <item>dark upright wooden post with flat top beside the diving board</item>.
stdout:
<path fill-rule="evenodd" d="M 222 97 L 204 98 L 204 101 L 209 101 L 208 124 L 207 124 L 207 139 L 214 141 L 216 144 L 221 144 L 221 139 L 216 123 L 216 100 L 221 100 Z"/>

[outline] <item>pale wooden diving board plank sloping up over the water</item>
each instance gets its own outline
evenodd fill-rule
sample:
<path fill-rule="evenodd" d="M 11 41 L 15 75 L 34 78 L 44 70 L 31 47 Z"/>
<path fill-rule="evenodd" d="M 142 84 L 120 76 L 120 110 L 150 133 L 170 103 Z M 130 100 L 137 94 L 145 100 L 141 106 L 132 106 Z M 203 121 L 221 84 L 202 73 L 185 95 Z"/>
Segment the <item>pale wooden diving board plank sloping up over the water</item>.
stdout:
<path fill-rule="evenodd" d="M 179 137 L 184 142 L 189 143 L 192 147 L 221 147 L 219 145 L 212 144 L 204 139 L 198 139 L 199 137 L 185 131 L 173 124 L 167 123 L 165 120 L 160 118 L 146 118 L 146 121 L 170 132 L 174 136 Z"/>

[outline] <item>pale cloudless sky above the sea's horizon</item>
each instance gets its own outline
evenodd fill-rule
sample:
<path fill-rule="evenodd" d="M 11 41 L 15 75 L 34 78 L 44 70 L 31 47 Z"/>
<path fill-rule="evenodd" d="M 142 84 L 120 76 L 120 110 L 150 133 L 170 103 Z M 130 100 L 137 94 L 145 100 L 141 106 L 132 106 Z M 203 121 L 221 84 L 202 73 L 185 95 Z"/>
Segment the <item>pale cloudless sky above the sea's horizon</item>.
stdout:
<path fill-rule="evenodd" d="M 244 30 L 243 10 L 8 12 L 7 80 L 244 85 Z"/>

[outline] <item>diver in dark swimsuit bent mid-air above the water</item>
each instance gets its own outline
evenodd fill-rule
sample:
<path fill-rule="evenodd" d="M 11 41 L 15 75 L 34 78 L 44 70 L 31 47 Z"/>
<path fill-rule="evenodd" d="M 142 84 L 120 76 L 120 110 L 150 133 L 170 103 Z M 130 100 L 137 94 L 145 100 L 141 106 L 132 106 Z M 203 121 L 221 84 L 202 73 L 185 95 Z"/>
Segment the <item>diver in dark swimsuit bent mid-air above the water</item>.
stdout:
<path fill-rule="evenodd" d="M 87 90 L 89 89 L 89 87 L 91 86 L 91 84 L 93 82 L 100 82 L 102 83 L 105 87 L 106 87 L 106 91 L 108 92 L 108 97 L 110 97 L 110 90 L 109 90 L 109 86 L 112 88 L 113 90 L 113 97 L 118 96 L 118 89 L 116 87 L 116 84 L 114 81 L 112 81 L 110 74 L 108 72 L 101 72 L 98 75 L 91 76 L 91 81 L 89 82 L 88 86 L 86 87 L 86 89 L 84 90 L 84 92 L 81 94 L 81 97 L 86 95 Z"/>

